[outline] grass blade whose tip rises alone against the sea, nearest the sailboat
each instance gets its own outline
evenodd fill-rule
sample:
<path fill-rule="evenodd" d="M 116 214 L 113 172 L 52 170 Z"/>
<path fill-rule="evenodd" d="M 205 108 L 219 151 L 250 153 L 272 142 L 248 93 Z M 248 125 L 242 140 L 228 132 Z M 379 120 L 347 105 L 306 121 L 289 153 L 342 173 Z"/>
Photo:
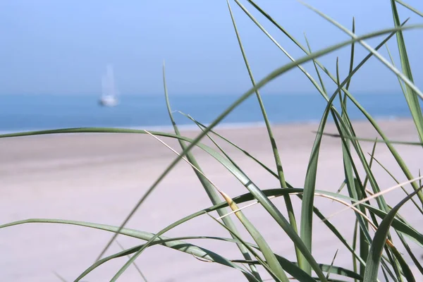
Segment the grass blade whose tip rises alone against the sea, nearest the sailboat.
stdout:
<path fill-rule="evenodd" d="M 166 99 L 166 107 L 168 109 L 168 115 L 171 119 L 171 123 L 173 125 L 173 130 L 175 131 L 176 135 L 180 136 L 180 131 L 178 129 L 178 125 L 176 125 L 176 122 L 173 118 L 172 110 L 171 110 L 171 104 L 168 99 L 168 91 L 167 91 L 167 85 L 166 85 L 166 72 L 165 72 L 165 66 L 163 63 L 163 84 L 164 84 L 164 96 Z M 186 149 L 186 145 L 184 142 L 180 139 L 178 139 L 180 147 L 184 150 Z M 187 159 L 195 166 L 196 169 L 193 168 L 195 174 L 197 175 L 197 178 L 200 180 L 200 183 L 202 184 L 204 190 L 207 192 L 207 195 L 209 196 L 209 199 L 211 200 L 212 204 L 217 204 L 221 202 L 221 199 L 217 195 L 216 191 L 214 190 L 213 185 L 203 176 L 202 169 L 200 168 L 200 165 L 198 164 L 197 160 L 195 159 L 194 155 L 191 152 L 187 152 Z M 219 216 L 223 216 L 223 214 L 226 214 L 226 209 L 218 209 L 217 213 Z M 238 234 L 238 231 L 235 227 L 235 224 L 233 223 L 231 218 L 223 219 L 223 223 L 228 226 L 233 233 Z M 232 233 L 231 233 L 232 234 Z M 248 253 L 247 249 L 243 245 L 238 245 L 238 248 L 240 249 L 240 252 L 243 254 L 243 257 L 247 260 L 251 259 L 250 254 Z M 262 278 L 260 278 L 259 272 L 257 271 L 257 268 L 254 265 L 250 266 L 250 269 L 252 271 L 252 274 L 257 278 L 257 280 L 262 281 Z"/>

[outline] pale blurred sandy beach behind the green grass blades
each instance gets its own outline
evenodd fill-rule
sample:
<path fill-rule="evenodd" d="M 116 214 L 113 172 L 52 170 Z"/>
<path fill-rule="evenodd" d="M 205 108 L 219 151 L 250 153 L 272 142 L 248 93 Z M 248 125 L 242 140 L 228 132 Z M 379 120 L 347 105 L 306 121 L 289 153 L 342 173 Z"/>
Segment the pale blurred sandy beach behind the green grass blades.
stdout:
<path fill-rule="evenodd" d="M 360 137 L 377 137 L 366 122 L 355 122 Z M 412 121 L 381 121 L 379 123 L 392 140 L 418 141 Z M 281 151 L 283 169 L 291 185 L 302 188 L 307 171 L 309 154 L 314 142 L 317 124 L 277 125 L 274 127 L 276 142 Z M 276 170 L 269 139 L 264 128 L 242 128 L 217 130 L 235 144 L 247 150 L 264 164 Z M 336 133 L 333 124 L 326 126 L 326 133 Z M 195 137 L 197 131 L 183 132 Z M 180 152 L 176 140 L 163 140 Z M 242 152 L 219 140 L 228 154 L 238 161 L 243 171 L 261 189 L 278 188 L 278 180 L 255 164 Z M 204 143 L 211 145 L 209 140 Z M 365 153 L 371 152 L 372 143 L 362 142 Z M 415 177 L 423 168 L 421 147 L 396 145 L 401 157 Z M 231 197 L 247 190 L 231 173 L 201 149 L 194 149 L 195 157 L 204 173 Z M 71 219 L 118 226 L 128 215 L 135 203 L 166 166 L 176 157 L 168 148 L 149 135 L 135 134 L 87 134 L 87 135 L 43 135 L 0 139 L 0 223 L 30 218 Z M 354 157 L 355 154 L 354 154 Z M 406 180 L 384 144 L 376 147 L 375 157 L 384 164 L 398 180 Z M 381 190 L 396 185 L 395 181 L 379 166 L 373 171 Z M 360 172 L 362 169 L 360 167 Z M 362 174 L 363 176 L 363 174 Z M 324 137 L 319 157 L 317 189 L 336 192 L 344 180 L 341 141 Z M 405 186 L 411 191 L 410 185 Z M 370 189 L 370 187 L 368 186 Z M 346 195 L 346 188 L 343 191 Z M 394 205 L 402 199 L 404 192 L 396 190 L 386 199 Z M 300 219 L 300 201 L 293 196 L 293 204 Z M 272 200 L 286 214 L 282 198 Z M 247 204 L 247 203 L 245 203 Z M 245 204 L 240 204 L 241 206 Z M 147 198 L 126 227 L 156 233 L 161 228 L 192 212 L 209 207 L 210 201 L 192 168 L 183 161 L 166 176 Z M 316 205 L 324 215 L 329 216 L 343 208 L 331 200 L 317 198 Z M 412 204 L 400 209 L 400 214 L 423 232 L 423 220 Z M 216 214 L 214 214 L 216 216 Z M 245 215 L 254 223 L 269 245 L 278 255 L 295 259 L 293 244 L 271 216 L 259 205 L 245 209 Z M 233 216 L 233 215 L 232 215 Z M 245 240 L 254 243 L 238 220 L 238 231 Z M 342 235 L 352 243 L 353 212 L 344 212 L 331 219 Z M 113 234 L 92 228 L 63 224 L 30 223 L 0 229 L 1 281 L 60 281 L 54 271 L 66 281 L 73 281 L 90 266 Z M 168 237 L 188 235 L 209 235 L 229 238 L 208 216 L 185 223 L 165 234 Z M 123 247 L 133 247 L 142 241 L 118 236 Z M 190 240 L 190 243 L 209 248 L 229 259 L 241 259 L 237 247 L 232 243 L 208 240 Z M 400 246 L 398 240 L 394 244 Z M 313 255 L 319 263 L 330 264 L 337 249 L 335 264 L 352 269 L 348 250 L 331 234 L 319 219 L 314 221 Z M 421 249 L 410 242 L 412 250 L 420 258 Z M 120 251 L 114 243 L 107 255 Z M 400 250 L 402 250 L 400 248 Z M 404 252 L 405 253 L 405 252 Z M 413 264 L 405 253 L 405 258 Z M 125 263 L 127 257 L 115 259 L 92 271 L 83 281 L 109 281 Z M 166 247 L 154 246 L 137 259 L 143 274 L 152 282 L 194 282 L 194 281 L 245 281 L 239 271 L 225 266 L 201 262 L 192 255 Z M 423 281 L 418 276 L 417 281 Z M 263 278 L 269 278 L 262 271 Z M 334 278 L 336 276 L 333 276 Z M 420 279 L 420 280 L 419 280 Z M 130 268 L 119 281 L 142 281 L 135 267 Z"/>

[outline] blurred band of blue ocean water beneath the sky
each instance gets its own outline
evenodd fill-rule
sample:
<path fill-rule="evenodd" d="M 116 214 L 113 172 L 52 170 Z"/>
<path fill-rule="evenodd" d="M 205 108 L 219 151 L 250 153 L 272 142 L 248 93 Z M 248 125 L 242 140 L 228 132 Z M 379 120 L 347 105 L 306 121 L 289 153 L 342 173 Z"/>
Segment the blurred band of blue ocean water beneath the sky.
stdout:
<path fill-rule="evenodd" d="M 356 99 L 374 118 L 407 118 L 410 110 L 402 93 L 357 94 Z M 74 127 L 168 128 L 164 95 L 122 95 L 116 107 L 102 107 L 94 95 L 0 95 L 0 132 Z M 211 123 L 237 99 L 234 94 L 173 95 L 173 111 L 190 114 L 201 123 Z M 326 101 L 319 94 L 263 95 L 273 124 L 319 122 Z M 336 99 L 339 109 L 339 101 Z M 350 118 L 364 119 L 348 101 Z M 178 125 L 194 126 L 185 116 L 174 113 Z M 238 106 L 222 121 L 226 126 L 262 125 L 263 118 L 255 95 Z"/>

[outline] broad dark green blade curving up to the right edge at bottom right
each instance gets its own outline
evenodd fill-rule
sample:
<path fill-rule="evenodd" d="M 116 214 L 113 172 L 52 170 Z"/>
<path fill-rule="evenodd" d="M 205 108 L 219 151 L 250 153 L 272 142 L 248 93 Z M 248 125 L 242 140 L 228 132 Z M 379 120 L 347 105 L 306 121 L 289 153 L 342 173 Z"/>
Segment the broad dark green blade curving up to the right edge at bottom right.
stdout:
<path fill-rule="evenodd" d="M 385 240 L 388 235 L 388 230 L 393 224 L 393 220 L 395 219 L 396 213 L 400 209 L 400 207 L 405 204 L 411 197 L 417 194 L 423 187 L 415 190 L 410 195 L 405 197 L 401 202 L 399 202 L 391 212 L 389 212 L 385 218 L 381 221 L 379 228 L 377 229 L 376 233 L 374 234 L 374 240 L 372 245 L 370 246 L 369 256 L 367 257 L 367 267 L 366 271 L 364 272 L 364 282 L 373 282 L 377 278 L 379 264 L 381 260 L 381 253 L 385 245 Z"/>

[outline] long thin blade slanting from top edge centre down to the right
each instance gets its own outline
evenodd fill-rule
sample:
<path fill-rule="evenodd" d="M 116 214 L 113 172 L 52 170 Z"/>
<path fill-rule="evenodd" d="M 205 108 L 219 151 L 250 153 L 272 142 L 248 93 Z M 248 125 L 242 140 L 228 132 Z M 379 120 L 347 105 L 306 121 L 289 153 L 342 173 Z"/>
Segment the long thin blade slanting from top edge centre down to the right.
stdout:
<path fill-rule="evenodd" d="M 252 86 L 255 87 L 256 86 L 255 78 L 252 75 L 250 64 L 248 63 L 247 55 L 245 54 L 243 43 L 241 42 L 241 38 L 240 38 L 240 35 L 239 35 L 239 32 L 238 32 L 238 28 L 237 28 L 236 23 L 235 23 L 235 18 L 233 17 L 233 13 L 232 13 L 232 9 L 231 9 L 231 4 L 229 4 L 229 1 L 228 0 L 226 2 L 228 4 L 229 13 L 231 14 L 231 20 L 232 20 L 232 23 L 233 23 L 233 29 L 235 30 L 235 35 L 236 35 L 236 38 L 238 39 L 238 44 L 239 44 L 239 47 L 240 47 L 240 51 L 241 51 L 241 54 L 243 55 L 243 60 L 244 60 L 244 63 L 245 63 L 245 67 L 247 68 L 248 75 L 250 76 L 250 80 L 251 80 Z M 278 171 L 278 180 L 279 180 L 279 183 L 281 184 L 281 188 L 286 188 L 287 185 L 286 185 L 285 175 L 283 173 L 283 167 L 282 167 L 281 157 L 280 157 L 280 154 L 278 152 L 278 147 L 276 145 L 276 140 L 275 140 L 274 135 L 273 135 L 273 132 L 271 130 L 271 126 L 270 126 L 270 123 L 269 123 L 269 118 L 267 117 L 266 109 L 264 109 L 263 100 L 262 100 L 262 97 L 260 95 L 259 90 L 256 90 L 255 93 L 256 93 L 257 101 L 259 102 L 260 109 L 262 111 L 262 116 L 263 116 L 263 119 L 264 119 L 264 123 L 266 125 L 267 133 L 269 134 L 269 140 L 270 140 L 270 143 L 271 143 L 272 152 L 274 154 L 274 159 L 275 159 L 275 164 L 276 164 L 276 170 Z M 286 210 L 288 212 L 289 223 L 293 227 L 293 230 L 295 231 L 295 233 L 298 233 L 297 221 L 295 220 L 293 203 L 291 202 L 289 195 L 284 196 L 283 197 L 283 200 L 285 200 Z M 297 255 L 297 259 L 299 260 L 299 262 L 301 262 L 301 260 L 300 260 L 301 252 L 300 252 L 300 250 L 298 250 L 298 247 L 297 246 L 294 245 L 294 247 L 295 247 L 295 255 Z"/>

